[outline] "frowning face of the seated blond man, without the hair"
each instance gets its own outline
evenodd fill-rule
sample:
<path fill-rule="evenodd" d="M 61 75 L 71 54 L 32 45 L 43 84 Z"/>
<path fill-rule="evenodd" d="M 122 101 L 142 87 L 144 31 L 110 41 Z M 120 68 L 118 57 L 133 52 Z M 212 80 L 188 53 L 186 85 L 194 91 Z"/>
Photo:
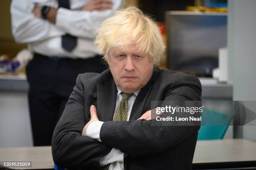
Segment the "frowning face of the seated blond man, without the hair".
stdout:
<path fill-rule="evenodd" d="M 108 54 L 108 64 L 116 86 L 124 93 L 133 93 L 148 83 L 155 62 L 136 45 L 122 50 L 113 49 Z"/>

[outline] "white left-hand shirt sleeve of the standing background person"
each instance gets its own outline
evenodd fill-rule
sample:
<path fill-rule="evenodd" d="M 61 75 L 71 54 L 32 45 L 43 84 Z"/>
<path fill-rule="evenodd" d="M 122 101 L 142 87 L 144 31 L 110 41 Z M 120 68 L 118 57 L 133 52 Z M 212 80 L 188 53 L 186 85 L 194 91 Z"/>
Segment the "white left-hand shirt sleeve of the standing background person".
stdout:
<path fill-rule="evenodd" d="M 15 41 L 19 43 L 30 43 L 44 41 L 65 34 L 64 30 L 49 23 L 49 21 L 36 18 L 33 14 L 34 7 L 35 4 L 32 0 L 12 1 L 10 12 Z"/>

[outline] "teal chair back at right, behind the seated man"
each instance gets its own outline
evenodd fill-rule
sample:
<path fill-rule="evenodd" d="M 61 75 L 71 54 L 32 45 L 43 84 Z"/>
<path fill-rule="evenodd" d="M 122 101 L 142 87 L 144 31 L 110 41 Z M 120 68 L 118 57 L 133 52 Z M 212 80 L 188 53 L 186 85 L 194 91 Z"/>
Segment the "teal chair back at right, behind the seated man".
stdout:
<path fill-rule="evenodd" d="M 202 112 L 202 125 L 198 131 L 197 140 L 218 140 L 223 139 L 228 125 L 233 118 L 233 114 L 225 114 L 221 112 L 216 112 L 210 109 L 204 109 Z M 214 124 L 220 126 L 215 126 Z"/>

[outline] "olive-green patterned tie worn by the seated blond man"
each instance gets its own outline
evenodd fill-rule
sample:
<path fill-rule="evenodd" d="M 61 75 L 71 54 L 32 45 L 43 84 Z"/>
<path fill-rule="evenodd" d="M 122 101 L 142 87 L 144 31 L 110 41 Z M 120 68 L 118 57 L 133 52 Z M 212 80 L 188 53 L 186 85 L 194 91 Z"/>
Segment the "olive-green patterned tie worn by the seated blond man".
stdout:
<path fill-rule="evenodd" d="M 120 101 L 120 104 L 118 105 L 118 108 L 115 111 L 113 121 L 127 121 L 127 114 L 128 114 L 128 100 L 133 95 L 122 93 L 122 100 Z M 102 167 L 103 170 L 108 170 L 110 164 L 105 165 Z"/>

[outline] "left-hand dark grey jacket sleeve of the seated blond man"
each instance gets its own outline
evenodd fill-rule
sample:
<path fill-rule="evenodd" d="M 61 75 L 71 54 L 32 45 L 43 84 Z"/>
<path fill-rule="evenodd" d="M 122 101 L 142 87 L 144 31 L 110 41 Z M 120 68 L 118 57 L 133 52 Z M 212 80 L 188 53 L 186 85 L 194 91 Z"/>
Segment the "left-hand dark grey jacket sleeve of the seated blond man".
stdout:
<path fill-rule="evenodd" d="M 77 78 L 64 112 L 54 129 L 52 155 L 56 165 L 66 168 L 101 169 L 99 161 L 111 147 L 87 136 L 81 136 L 84 121 L 84 87 Z"/>

